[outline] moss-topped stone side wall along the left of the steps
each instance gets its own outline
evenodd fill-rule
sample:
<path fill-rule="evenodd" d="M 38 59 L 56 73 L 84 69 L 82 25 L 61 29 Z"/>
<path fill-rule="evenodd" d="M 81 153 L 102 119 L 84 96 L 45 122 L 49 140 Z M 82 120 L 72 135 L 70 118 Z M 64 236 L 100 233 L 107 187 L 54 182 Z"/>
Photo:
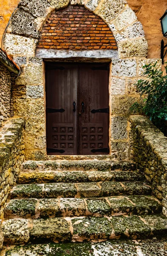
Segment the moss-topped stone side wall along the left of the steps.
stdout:
<path fill-rule="evenodd" d="M 8 194 L 16 182 L 24 160 L 22 118 L 11 118 L 0 128 L 0 218 Z"/>

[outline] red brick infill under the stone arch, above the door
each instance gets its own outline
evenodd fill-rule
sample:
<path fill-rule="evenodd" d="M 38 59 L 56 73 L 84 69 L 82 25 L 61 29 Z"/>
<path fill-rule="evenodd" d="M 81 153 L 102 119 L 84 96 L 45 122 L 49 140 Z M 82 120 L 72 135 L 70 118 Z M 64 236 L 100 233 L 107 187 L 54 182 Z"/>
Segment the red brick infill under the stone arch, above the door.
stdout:
<path fill-rule="evenodd" d="M 105 22 L 83 6 L 53 11 L 40 32 L 37 48 L 117 49 Z"/>

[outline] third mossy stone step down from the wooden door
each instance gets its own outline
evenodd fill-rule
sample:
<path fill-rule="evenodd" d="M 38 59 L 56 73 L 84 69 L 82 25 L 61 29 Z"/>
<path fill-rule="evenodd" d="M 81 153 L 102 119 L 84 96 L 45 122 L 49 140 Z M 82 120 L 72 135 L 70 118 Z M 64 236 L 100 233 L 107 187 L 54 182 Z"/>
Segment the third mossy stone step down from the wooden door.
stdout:
<path fill-rule="evenodd" d="M 113 195 L 150 195 L 151 187 L 141 181 L 44 183 L 17 185 L 10 198 L 92 198 Z"/>

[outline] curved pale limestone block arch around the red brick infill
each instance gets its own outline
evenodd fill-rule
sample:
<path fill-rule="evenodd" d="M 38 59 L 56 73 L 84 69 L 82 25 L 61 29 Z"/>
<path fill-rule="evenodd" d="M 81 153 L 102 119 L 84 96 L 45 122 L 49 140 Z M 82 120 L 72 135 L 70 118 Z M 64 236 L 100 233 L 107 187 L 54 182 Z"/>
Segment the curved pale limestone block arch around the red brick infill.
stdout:
<path fill-rule="evenodd" d="M 34 56 L 39 33 L 51 11 L 82 5 L 107 23 L 116 38 L 119 58 L 146 57 L 142 24 L 125 0 L 20 0 L 4 37 L 11 55 Z"/>

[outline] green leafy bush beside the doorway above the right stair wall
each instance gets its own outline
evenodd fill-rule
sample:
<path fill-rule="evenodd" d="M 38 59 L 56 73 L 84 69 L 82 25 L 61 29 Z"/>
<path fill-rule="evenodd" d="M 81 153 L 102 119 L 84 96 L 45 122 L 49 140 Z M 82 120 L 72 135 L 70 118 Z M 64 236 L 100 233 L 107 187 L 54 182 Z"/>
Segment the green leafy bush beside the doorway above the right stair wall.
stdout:
<path fill-rule="evenodd" d="M 156 64 L 143 67 L 146 79 L 139 80 L 136 84 L 141 100 L 140 103 L 135 102 L 130 110 L 148 116 L 164 132 L 167 121 L 167 75 L 164 76 L 156 68 Z"/>

